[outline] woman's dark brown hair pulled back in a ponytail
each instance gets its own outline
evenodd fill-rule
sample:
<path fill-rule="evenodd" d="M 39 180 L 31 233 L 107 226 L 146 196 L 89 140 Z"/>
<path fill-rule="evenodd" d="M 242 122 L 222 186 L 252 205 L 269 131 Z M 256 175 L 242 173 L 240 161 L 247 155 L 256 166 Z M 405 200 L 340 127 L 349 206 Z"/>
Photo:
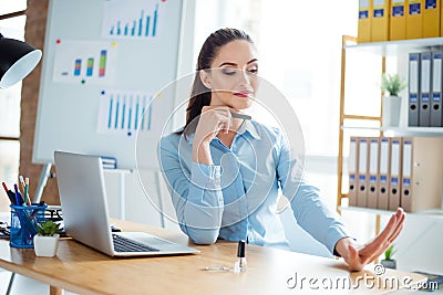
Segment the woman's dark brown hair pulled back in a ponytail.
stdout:
<path fill-rule="evenodd" d="M 210 89 L 203 84 L 199 71 L 210 69 L 210 64 L 220 48 L 237 40 L 244 40 L 254 44 L 246 32 L 230 28 L 219 29 L 206 39 L 198 54 L 193 89 L 186 108 L 186 125 L 183 130 L 177 131 L 178 135 L 184 131 L 185 135 L 193 133 L 198 124 L 197 117 L 202 114 L 202 108 L 210 104 Z"/>

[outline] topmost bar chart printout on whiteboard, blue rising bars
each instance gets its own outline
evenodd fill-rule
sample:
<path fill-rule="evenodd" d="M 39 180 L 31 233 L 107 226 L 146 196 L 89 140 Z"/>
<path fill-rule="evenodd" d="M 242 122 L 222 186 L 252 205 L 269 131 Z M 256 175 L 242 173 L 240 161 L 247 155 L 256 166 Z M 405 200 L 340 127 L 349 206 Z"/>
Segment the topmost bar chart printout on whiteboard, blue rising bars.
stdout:
<path fill-rule="evenodd" d="M 166 1 L 105 1 L 102 36 L 153 39 L 158 35 L 161 8 Z M 163 17 L 163 15 L 162 15 Z"/>

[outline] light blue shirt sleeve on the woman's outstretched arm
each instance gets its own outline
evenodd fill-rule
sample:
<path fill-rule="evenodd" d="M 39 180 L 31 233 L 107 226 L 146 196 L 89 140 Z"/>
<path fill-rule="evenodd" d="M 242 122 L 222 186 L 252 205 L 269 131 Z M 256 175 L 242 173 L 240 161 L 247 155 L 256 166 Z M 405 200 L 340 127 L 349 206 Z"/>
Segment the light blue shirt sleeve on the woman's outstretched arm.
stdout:
<path fill-rule="evenodd" d="M 320 198 L 318 188 L 305 183 L 303 164 L 297 159 L 296 152 L 291 152 L 281 133 L 277 141 L 279 143 L 276 151 L 278 180 L 284 196 L 290 201 L 297 222 L 336 254 L 337 242 L 349 236 L 339 214 L 328 208 Z"/>

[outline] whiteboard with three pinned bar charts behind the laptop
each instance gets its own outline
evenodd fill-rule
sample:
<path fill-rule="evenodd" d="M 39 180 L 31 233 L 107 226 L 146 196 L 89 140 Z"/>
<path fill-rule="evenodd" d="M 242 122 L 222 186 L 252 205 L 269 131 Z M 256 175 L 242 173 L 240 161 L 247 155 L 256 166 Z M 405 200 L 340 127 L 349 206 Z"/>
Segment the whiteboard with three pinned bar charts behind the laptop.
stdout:
<path fill-rule="evenodd" d="M 50 0 L 33 162 L 53 164 L 53 151 L 65 150 L 115 157 L 132 169 L 138 136 L 145 145 L 137 147 L 152 155 L 141 166 L 158 166 L 152 149 L 174 103 L 156 97 L 186 71 L 178 66 L 190 52 L 181 50 L 185 6 Z"/>

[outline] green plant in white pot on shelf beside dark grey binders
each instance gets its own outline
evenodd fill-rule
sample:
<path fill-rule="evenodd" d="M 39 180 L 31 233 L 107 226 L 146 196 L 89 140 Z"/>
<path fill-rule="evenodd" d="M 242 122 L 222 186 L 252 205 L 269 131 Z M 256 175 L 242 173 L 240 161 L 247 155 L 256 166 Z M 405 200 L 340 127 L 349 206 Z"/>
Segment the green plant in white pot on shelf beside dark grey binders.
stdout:
<path fill-rule="evenodd" d="M 383 126 L 399 126 L 401 97 L 400 92 L 406 87 L 406 82 L 399 74 L 383 74 L 381 89 L 383 91 Z"/>

